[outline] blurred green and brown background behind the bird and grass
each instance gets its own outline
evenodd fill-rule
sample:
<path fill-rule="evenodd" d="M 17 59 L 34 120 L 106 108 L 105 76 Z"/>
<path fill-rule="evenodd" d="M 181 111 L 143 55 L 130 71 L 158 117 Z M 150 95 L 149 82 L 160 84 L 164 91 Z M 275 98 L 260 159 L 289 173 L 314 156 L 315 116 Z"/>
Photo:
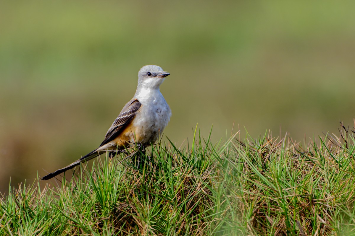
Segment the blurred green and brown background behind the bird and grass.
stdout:
<path fill-rule="evenodd" d="M 353 127 L 354 1 L 1 1 L 0 191 L 96 148 L 157 64 L 176 145 Z M 239 126 L 239 128 L 238 128 Z M 245 127 L 245 128 L 244 128 Z M 166 138 L 164 138 L 166 140 Z M 302 141 L 303 142 L 303 141 Z M 47 172 L 46 172 L 47 171 Z M 43 181 L 44 182 L 44 181 Z"/>

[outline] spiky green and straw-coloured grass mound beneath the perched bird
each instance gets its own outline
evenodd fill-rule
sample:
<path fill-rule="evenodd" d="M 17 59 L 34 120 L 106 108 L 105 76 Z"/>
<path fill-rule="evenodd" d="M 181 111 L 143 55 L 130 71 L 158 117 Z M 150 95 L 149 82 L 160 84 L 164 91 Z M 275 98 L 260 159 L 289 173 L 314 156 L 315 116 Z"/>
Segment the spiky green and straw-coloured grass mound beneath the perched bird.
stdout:
<path fill-rule="evenodd" d="M 341 133 L 302 147 L 268 133 L 212 145 L 195 132 L 144 164 L 98 159 L 56 187 L 10 189 L 0 235 L 353 235 L 355 145 Z"/>

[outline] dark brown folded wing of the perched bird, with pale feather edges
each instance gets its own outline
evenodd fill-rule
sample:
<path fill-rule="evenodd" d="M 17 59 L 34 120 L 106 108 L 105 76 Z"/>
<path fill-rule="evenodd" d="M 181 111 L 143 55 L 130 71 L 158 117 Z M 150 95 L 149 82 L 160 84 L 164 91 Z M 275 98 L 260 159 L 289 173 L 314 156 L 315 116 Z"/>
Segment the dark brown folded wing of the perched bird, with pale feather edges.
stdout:
<path fill-rule="evenodd" d="M 132 99 L 127 102 L 123 107 L 122 111 L 112 123 L 111 127 L 105 135 L 105 139 L 100 144 L 100 147 L 107 144 L 109 141 L 114 140 L 115 137 L 123 130 L 123 128 L 131 122 L 131 120 L 136 116 L 136 112 L 141 107 L 141 103 L 137 99 Z"/>

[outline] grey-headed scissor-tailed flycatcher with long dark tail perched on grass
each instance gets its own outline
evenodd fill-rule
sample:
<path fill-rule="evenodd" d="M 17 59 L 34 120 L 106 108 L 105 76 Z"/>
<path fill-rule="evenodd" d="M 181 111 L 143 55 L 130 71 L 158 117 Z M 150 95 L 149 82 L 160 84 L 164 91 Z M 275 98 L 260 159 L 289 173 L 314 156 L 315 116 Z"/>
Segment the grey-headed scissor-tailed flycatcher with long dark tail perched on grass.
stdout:
<path fill-rule="evenodd" d="M 138 86 L 133 99 L 123 107 L 102 144 L 76 162 L 42 179 L 51 179 L 106 151 L 124 150 L 133 144 L 148 146 L 157 141 L 171 116 L 170 107 L 159 90 L 160 84 L 168 75 L 169 73 L 159 66 L 143 66 L 138 72 Z"/>

